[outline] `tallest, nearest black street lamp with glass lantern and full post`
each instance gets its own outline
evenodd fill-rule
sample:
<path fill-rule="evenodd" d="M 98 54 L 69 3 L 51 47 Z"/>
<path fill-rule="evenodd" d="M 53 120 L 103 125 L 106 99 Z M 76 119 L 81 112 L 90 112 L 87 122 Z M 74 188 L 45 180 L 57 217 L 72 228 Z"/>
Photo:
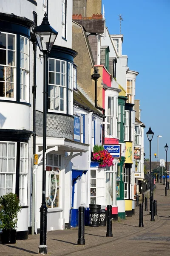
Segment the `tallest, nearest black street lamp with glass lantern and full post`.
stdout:
<path fill-rule="evenodd" d="M 47 207 L 45 202 L 45 154 L 46 154 L 46 130 L 47 130 L 47 100 L 48 100 L 48 72 L 47 72 L 47 55 L 57 38 L 58 32 L 55 31 L 48 22 L 45 13 L 42 23 L 33 29 L 34 35 L 40 51 L 43 53 L 44 70 L 43 70 L 43 145 L 42 145 L 42 204 L 40 207 L 40 245 L 39 254 L 47 254 Z"/>

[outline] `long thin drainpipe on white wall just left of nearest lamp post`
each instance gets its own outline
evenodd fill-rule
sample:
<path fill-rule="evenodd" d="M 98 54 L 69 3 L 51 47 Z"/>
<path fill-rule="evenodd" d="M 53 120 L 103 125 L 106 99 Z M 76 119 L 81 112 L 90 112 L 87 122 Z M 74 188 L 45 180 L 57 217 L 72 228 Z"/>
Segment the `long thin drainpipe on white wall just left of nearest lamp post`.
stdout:
<path fill-rule="evenodd" d="M 32 172 L 32 235 L 34 235 L 34 230 L 35 230 L 35 173 L 34 170 L 35 165 L 34 165 L 34 155 L 36 153 L 36 124 L 35 124 L 35 110 L 36 110 L 36 89 L 37 89 L 37 84 L 36 84 L 36 58 L 37 58 L 37 43 L 33 43 L 33 51 L 34 51 L 34 64 L 33 64 L 33 76 L 34 76 L 34 81 L 33 81 L 33 87 L 32 87 L 32 93 L 33 93 L 33 172 Z"/>

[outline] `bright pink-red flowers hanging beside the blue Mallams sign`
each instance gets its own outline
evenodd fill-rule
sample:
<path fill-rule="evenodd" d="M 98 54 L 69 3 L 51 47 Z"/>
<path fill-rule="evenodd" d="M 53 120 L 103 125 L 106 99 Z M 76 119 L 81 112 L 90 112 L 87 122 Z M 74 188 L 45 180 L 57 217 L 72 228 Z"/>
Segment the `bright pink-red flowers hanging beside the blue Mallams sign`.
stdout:
<path fill-rule="evenodd" d="M 99 162 L 99 167 L 110 167 L 113 166 L 113 157 L 107 150 L 101 150 L 99 152 L 93 153 L 93 160 Z"/>

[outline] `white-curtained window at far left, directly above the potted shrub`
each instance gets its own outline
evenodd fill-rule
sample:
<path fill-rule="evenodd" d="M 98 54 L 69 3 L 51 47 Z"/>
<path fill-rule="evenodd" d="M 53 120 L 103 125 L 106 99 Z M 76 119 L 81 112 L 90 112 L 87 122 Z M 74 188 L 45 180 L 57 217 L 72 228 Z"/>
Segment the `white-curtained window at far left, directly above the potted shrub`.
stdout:
<path fill-rule="evenodd" d="M 15 193 L 16 142 L 0 142 L 0 196 Z"/>

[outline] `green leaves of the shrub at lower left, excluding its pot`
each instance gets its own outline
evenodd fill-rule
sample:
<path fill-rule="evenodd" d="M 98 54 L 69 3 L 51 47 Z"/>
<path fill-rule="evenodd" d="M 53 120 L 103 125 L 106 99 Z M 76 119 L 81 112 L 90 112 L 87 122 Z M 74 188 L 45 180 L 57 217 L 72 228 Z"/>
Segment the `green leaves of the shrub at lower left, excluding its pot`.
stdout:
<path fill-rule="evenodd" d="M 0 197 L 0 229 L 11 230 L 17 227 L 20 200 L 16 194 L 8 193 Z"/>

